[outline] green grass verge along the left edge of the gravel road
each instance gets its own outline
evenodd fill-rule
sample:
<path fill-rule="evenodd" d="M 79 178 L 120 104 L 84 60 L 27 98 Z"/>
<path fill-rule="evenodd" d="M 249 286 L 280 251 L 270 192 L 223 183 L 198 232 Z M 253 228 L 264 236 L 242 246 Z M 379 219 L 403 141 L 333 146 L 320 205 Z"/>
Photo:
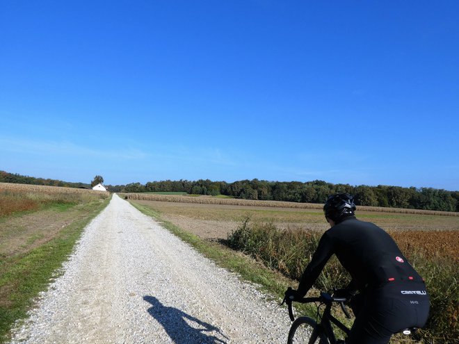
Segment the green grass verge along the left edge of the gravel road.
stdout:
<path fill-rule="evenodd" d="M 9 338 L 10 328 L 16 320 L 26 317 L 33 306 L 34 297 L 57 276 L 63 261 L 72 253 L 83 228 L 102 211 L 109 202 L 93 201 L 83 204 L 77 220 L 63 227 L 47 243 L 22 254 L 0 256 L 0 343 Z M 59 207 L 65 211 L 67 205 Z M 31 241 L 30 243 L 33 243 Z"/>

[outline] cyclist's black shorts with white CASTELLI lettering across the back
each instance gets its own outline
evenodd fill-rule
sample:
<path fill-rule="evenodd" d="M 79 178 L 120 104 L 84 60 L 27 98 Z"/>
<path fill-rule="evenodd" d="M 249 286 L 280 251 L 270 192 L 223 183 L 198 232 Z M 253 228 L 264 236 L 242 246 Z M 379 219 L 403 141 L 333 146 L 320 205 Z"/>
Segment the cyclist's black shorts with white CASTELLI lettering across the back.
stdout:
<path fill-rule="evenodd" d="M 355 321 L 346 343 L 387 344 L 392 334 L 424 327 L 429 298 L 424 283 L 387 284 L 351 300 Z"/>

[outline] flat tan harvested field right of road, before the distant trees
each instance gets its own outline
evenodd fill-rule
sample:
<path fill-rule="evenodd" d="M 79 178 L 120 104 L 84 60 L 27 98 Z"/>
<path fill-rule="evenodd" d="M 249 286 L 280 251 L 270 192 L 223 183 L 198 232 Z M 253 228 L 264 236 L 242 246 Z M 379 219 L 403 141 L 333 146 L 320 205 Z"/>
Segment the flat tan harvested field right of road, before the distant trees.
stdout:
<path fill-rule="evenodd" d="M 155 195 L 156 196 L 156 195 Z M 187 198 L 187 197 L 185 197 Z M 201 197 L 188 197 L 196 199 Z M 236 201 L 239 201 L 236 200 Z M 270 207 L 258 201 L 258 206 L 232 204 L 204 204 L 182 202 L 158 202 L 131 200 L 154 208 L 161 213 L 164 220 L 190 231 L 201 238 L 227 238 L 244 218 L 253 221 L 273 222 L 282 229 L 314 229 L 325 231 L 329 228 L 321 208 L 287 208 Z M 257 201 L 251 201 L 257 202 Z M 321 206 L 315 204 L 314 206 Z M 386 213 L 377 211 L 360 211 L 357 218 L 374 222 L 388 231 L 458 231 L 459 218 L 444 215 L 421 215 L 409 213 Z M 458 232 L 459 234 L 459 232 Z M 408 232 L 407 232 L 408 235 Z"/>

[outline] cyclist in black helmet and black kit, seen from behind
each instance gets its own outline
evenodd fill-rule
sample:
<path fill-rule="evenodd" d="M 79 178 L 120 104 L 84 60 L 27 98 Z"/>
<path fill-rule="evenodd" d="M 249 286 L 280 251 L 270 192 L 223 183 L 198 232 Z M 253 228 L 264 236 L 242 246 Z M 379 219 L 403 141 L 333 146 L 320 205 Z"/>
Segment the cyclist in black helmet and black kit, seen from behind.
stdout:
<path fill-rule="evenodd" d="M 339 296 L 348 297 L 355 321 L 348 344 L 386 344 L 392 334 L 423 327 L 429 311 L 424 280 L 412 268 L 394 240 L 371 222 L 355 218 L 353 196 L 331 195 L 323 206 L 331 228 L 325 231 L 300 279 L 293 298 L 304 297 L 325 263 L 336 254 L 351 275 Z"/>

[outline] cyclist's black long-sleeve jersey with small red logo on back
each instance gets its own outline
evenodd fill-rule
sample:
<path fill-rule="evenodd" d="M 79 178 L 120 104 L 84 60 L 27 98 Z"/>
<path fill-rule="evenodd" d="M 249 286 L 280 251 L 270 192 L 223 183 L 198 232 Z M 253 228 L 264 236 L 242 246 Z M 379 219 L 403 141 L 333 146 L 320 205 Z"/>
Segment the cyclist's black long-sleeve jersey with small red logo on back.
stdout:
<path fill-rule="evenodd" d="M 387 283 L 423 281 L 389 234 L 376 224 L 351 216 L 335 224 L 321 237 L 300 280 L 300 296 L 312 287 L 333 254 L 351 275 L 350 286 L 354 290 L 378 288 Z"/>

